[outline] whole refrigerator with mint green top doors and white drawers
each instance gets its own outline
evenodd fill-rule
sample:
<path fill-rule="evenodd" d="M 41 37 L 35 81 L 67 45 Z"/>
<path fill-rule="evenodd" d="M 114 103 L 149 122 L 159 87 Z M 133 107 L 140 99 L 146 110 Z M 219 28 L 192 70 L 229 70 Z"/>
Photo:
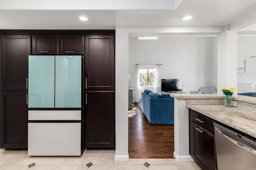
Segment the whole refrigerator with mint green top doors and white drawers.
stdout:
<path fill-rule="evenodd" d="M 28 56 L 28 155 L 84 151 L 82 56 Z"/>

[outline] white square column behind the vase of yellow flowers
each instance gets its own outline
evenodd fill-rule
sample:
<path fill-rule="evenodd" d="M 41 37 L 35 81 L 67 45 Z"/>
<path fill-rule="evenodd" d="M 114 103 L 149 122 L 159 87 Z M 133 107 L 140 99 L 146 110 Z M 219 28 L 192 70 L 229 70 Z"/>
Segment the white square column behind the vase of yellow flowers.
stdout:
<path fill-rule="evenodd" d="M 230 86 L 237 87 L 237 31 L 226 29 L 218 35 L 218 94 Z"/>

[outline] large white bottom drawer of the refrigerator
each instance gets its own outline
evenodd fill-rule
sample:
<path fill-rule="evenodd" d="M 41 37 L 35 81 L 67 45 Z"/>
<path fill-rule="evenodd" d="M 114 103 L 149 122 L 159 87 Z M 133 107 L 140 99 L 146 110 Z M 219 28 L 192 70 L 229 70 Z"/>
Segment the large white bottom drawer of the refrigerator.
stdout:
<path fill-rule="evenodd" d="M 28 156 L 81 156 L 81 123 L 28 123 Z"/>

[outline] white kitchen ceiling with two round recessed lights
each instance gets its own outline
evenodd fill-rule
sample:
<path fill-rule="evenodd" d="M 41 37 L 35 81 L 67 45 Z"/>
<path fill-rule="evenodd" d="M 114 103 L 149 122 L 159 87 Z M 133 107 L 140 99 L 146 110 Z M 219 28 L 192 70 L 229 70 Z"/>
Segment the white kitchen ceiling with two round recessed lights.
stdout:
<path fill-rule="evenodd" d="M 194 18 L 180 21 L 188 14 Z M 89 20 L 80 21 L 79 16 Z M 0 29 L 224 25 L 236 29 L 253 23 L 256 0 L 0 0 Z M 254 26 L 250 29 L 256 31 Z"/>

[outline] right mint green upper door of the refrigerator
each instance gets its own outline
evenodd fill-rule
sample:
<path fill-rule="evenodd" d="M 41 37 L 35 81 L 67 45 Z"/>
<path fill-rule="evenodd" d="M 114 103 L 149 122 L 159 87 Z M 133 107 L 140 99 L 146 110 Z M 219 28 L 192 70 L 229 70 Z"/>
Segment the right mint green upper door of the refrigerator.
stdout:
<path fill-rule="evenodd" d="M 55 56 L 55 107 L 80 108 L 81 56 Z"/>

